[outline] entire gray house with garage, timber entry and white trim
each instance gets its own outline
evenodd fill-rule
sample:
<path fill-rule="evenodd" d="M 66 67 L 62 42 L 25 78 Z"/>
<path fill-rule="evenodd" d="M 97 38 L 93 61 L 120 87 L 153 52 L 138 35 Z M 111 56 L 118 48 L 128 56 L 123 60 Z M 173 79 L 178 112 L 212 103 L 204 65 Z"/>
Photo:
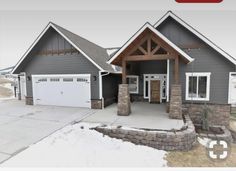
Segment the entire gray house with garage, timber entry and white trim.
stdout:
<path fill-rule="evenodd" d="M 118 114 L 129 115 L 130 101 L 167 103 L 170 118 L 188 112 L 196 123 L 207 104 L 211 124 L 228 125 L 236 103 L 236 59 L 171 11 L 110 56 L 49 23 L 13 74 L 23 80 L 27 104 L 103 108 L 117 101 Z"/>

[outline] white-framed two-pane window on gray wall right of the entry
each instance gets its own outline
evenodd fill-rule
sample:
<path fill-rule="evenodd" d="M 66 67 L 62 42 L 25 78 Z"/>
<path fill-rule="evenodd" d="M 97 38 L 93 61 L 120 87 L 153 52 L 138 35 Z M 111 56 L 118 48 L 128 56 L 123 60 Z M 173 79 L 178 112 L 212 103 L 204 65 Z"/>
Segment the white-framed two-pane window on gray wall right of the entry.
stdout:
<path fill-rule="evenodd" d="M 210 99 L 211 73 L 186 73 L 186 100 Z"/>

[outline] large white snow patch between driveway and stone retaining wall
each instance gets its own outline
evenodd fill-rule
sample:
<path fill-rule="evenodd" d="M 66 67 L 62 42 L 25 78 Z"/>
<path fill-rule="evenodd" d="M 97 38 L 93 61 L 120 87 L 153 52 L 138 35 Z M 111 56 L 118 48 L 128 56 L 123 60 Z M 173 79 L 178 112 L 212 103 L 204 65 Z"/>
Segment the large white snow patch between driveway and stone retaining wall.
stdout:
<path fill-rule="evenodd" d="M 146 146 L 134 145 L 103 136 L 89 128 L 96 124 L 69 125 L 1 166 L 24 167 L 161 167 L 166 152 Z"/>

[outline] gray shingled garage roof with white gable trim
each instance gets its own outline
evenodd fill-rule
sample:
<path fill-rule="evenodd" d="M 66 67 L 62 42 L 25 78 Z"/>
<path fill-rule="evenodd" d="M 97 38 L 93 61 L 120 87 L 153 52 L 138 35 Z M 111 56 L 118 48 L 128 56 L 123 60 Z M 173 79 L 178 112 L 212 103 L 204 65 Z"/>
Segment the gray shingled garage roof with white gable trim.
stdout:
<path fill-rule="evenodd" d="M 27 55 L 31 52 L 34 46 L 38 43 L 38 41 L 42 38 L 42 36 L 46 33 L 49 28 L 53 28 L 56 32 L 58 32 L 64 39 L 66 39 L 75 49 L 77 49 L 81 54 L 83 54 L 90 62 L 92 62 L 99 70 L 101 71 L 114 71 L 111 65 L 107 64 L 106 61 L 110 58 L 106 52 L 106 49 L 52 23 L 44 28 L 44 30 L 40 33 L 34 43 L 30 46 L 30 48 L 26 51 L 23 57 L 16 64 L 12 73 L 14 74 L 15 70 L 19 67 L 19 65 L 24 61 Z"/>

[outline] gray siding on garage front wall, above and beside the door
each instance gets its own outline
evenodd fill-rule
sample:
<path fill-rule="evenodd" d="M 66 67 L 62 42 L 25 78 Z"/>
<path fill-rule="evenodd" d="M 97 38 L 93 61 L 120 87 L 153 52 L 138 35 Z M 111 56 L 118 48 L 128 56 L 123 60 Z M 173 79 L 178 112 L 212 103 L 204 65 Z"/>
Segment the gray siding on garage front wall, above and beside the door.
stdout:
<path fill-rule="evenodd" d="M 43 51 L 71 49 L 72 46 L 52 28 L 27 56 L 19 71 L 33 74 L 91 74 L 92 99 L 99 99 L 99 70 L 81 53 L 39 55 Z M 94 79 L 96 76 L 96 80 Z M 27 81 L 27 96 L 32 97 L 32 81 Z"/>

